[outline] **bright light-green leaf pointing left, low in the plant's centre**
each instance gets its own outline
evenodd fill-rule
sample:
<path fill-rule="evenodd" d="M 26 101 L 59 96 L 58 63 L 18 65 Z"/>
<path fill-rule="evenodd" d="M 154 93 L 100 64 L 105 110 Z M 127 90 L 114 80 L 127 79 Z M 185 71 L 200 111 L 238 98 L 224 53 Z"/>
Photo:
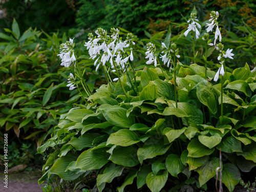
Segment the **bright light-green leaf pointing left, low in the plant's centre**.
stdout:
<path fill-rule="evenodd" d="M 140 142 L 138 135 L 127 129 L 121 129 L 115 133 L 112 133 L 106 141 L 106 144 L 114 144 L 119 146 L 130 146 L 132 144 Z"/>

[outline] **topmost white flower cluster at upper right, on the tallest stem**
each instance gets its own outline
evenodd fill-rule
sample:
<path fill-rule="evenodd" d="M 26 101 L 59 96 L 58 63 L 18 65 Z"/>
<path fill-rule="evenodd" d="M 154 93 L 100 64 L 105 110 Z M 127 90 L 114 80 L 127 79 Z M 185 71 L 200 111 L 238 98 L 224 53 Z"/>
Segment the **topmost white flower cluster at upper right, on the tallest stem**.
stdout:
<path fill-rule="evenodd" d="M 216 26 L 216 31 L 215 31 L 215 39 L 214 39 L 214 44 L 209 44 L 210 46 L 213 46 L 213 45 L 216 45 L 216 40 L 218 39 L 219 37 L 219 40 L 221 42 L 221 32 L 220 32 L 220 29 L 219 29 L 219 24 L 217 22 L 217 19 L 219 17 L 219 12 L 218 11 L 211 11 L 210 13 L 210 19 L 209 19 L 209 24 L 206 24 L 205 27 L 207 27 L 206 31 L 207 33 L 212 31 L 214 29 L 214 27 Z"/>

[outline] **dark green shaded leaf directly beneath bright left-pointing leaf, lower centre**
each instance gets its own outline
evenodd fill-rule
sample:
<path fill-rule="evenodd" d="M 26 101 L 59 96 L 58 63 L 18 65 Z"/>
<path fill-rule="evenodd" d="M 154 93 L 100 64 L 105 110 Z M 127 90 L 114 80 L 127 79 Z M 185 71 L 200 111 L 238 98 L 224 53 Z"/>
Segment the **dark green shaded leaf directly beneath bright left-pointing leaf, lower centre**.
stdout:
<path fill-rule="evenodd" d="M 109 159 L 115 164 L 127 167 L 133 167 L 139 164 L 137 150 L 130 146 L 115 148 Z"/>

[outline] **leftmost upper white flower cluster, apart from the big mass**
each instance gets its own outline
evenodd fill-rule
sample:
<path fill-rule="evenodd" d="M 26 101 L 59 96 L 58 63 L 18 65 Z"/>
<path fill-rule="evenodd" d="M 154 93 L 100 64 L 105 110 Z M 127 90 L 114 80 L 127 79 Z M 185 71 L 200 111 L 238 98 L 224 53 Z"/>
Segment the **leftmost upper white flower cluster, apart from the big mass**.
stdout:
<path fill-rule="evenodd" d="M 72 62 L 76 60 L 75 54 L 74 54 L 74 38 L 69 38 L 69 41 L 65 42 L 64 44 L 61 44 L 59 46 L 62 51 L 57 55 L 61 59 L 61 66 L 65 66 L 68 68 Z"/>

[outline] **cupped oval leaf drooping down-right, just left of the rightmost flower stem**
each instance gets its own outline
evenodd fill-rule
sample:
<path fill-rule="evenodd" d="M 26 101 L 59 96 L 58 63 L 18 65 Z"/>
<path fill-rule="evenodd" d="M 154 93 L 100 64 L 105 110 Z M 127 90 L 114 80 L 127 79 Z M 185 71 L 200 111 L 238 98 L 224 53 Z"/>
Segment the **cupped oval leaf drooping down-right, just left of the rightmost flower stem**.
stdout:
<path fill-rule="evenodd" d="M 214 93 L 206 86 L 197 86 L 197 97 L 201 103 L 206 105 L 211 113 L 216 114 L 217 102 Z"/>

